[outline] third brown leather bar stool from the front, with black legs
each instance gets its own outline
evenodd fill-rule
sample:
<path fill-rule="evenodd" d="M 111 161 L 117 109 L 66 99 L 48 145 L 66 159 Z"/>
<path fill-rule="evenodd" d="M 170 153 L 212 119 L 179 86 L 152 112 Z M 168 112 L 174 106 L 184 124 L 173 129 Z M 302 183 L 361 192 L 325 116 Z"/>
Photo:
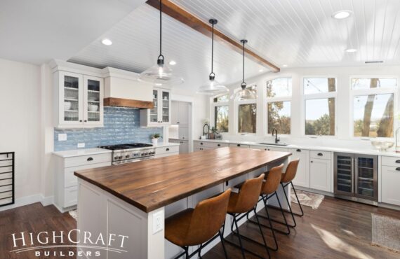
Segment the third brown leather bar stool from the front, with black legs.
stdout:
<path fill-rule="evenodd" d="M 284 169 L 284 164 L 279 165 L 278 167 L 273 167 L 265 176 L 265 181 L 262 182 L 262 187 L 261 187 L 261 192 L 260 192 L 260 197 L 263 202 L 264 202 L 264 209 L 265 212 L 267 213 L 267 217 L 258 215 L 260 218 L 266 218 L 269 221 L 269 225 L 263 225 L 262 223 L 260 224 L 262 227 L 269 228 L 272 231 L 272 237 L 274 237 L 274 243 L 275 243 L 275 248 L 268 247 L 272 251 L 277 251 L 278 250 L 278 242 L 276 241 L 275 237 L 275 230 L 274 226 L 272 225 L 272 219 L 269 216 L 269 211 L 268 211 L 268 206 L 267 206 L 267 200 L 269 200 L 272 197 L 276 197 L 276 200 L 279 204 L 279 208 L 281 209 L 281 214 L 284 217 L 284 221 L 286 223 L 286 229 L 287 231 L 284 232 L 282 230 L 276 230 L 277 232 L 282 232 L 286 235 L 289 235 L 291 233 L 291 230 L 289 228 L 289 225 L 286 221 L 286 217 L 284 214 L 284 210 L 281 207 L 281 201 L 279 200 L 278 195 L 276 194 L 276 190 L 279 188 L 279 183 L 281 183 L 281 176 L 282 176 L 282 169 Z M 260 201 L 259 200 L 259 201 Z M 256 221 L 253 221 L 249 219 L 251 223 L 256 223 Z"/>

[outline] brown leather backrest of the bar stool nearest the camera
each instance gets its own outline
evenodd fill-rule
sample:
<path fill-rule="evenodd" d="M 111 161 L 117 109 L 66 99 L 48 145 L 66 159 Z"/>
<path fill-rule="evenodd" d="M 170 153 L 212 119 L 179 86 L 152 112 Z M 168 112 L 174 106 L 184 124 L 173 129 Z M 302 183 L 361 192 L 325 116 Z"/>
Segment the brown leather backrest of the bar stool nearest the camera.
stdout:
<path fill-rule="evenodd" d="M 189 223 L 185 244 L 198 245 L 211 239 L 222 227 L 227 215 L 231 189 L 224 193 L 203 200 L 194 208 Z"/>

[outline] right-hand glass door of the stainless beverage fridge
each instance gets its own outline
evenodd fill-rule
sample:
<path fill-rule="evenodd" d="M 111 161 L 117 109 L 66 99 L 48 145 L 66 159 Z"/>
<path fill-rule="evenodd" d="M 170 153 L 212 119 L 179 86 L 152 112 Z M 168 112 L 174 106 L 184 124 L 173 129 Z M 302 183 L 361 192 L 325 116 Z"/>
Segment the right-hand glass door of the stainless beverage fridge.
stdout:
<path fill-rule="evenodd" d="M 376 158 L 356 157 L 356 195 L 376 200 L 377 193 L 377 174 Z"/>

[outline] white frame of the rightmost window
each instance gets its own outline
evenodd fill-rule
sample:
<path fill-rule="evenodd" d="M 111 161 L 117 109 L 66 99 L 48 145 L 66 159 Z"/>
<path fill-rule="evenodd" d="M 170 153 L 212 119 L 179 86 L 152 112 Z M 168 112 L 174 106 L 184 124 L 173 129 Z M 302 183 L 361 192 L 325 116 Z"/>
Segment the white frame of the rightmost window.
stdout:
<path fill-rule="evenodd" d="M 396 79 L 396 87 L 393 88 L 376 88 L 376 89 L 352 89 L 352 79 L 353 78 L 385 78 L 385 79 Z M 349 134 L 350 139 L 357 140 L 371 140 L 375 137 L 355 137 L 354 136 L 354 97 L 365 96 L 370 94 L 393 94 L 393 137 L 380 137 L 383 139 L 392 140 L 396 137 L 396 128 L 399 127 L 399 123 L 396 120 L 396 112 L 399 111 L 399 78 L 396 76 L 385 76 L 385 75 L 375 75 L 375 76 L 363 76 L 363 75 L 352 75 L 349 76 Z"/>

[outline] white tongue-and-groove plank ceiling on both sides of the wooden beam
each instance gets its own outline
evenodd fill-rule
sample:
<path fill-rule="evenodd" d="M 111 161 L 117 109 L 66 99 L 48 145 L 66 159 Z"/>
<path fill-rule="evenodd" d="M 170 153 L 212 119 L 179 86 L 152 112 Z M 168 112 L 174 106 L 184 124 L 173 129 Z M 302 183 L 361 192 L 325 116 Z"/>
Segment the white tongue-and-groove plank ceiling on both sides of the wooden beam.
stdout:
<path fill-rule="evenodd" d="M 399 64 L 399 0 L 171 0 L 201 20 L 218 19 L 216 28 L 282 68 L 307 66 L 364 66 L 382 60 Z M 344 20 L 331 15 L 351 10 Z M 112 29 L 78 52 L 71 62 L 113 66 L 142 72 L 159 55 L 159 13 L 144 3 Z M 102 45 L 110 38 L 111 46 Z M 345 52 L 356 48 L 357 52 Z M 211 71 L 211 39 L 163 15 L 163 54 L 185 83 L 195 90 Z M 217 80 L 241 80 L 241 55 L 215 42 Z M 246 58 L 246 78 L 267 68 Z M 251 82 L 248 82 L 251 83 Z"/>

